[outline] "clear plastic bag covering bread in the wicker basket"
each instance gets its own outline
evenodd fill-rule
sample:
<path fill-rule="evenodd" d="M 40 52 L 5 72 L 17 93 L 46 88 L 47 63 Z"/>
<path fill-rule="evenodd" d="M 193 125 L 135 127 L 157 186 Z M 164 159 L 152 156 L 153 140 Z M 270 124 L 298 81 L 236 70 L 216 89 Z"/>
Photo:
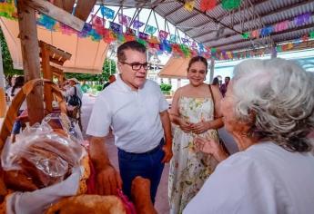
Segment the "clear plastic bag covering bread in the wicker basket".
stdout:
<path fill-rule="evenodd" d="M 61 124 L 63 133 L 54 131 L 51 124 Z M 77 128 L 62 114 L 48 115 L 42 124 L 21 133 L 15 143 L 5 143 L 3 169 L 19 172 L 16 180 L 9 180 L 11 184 L 20 183 L 24 177 L 41 189 L 65 180 L 85 155 L 80 145 L 84 142 L 82 133 Z"/>

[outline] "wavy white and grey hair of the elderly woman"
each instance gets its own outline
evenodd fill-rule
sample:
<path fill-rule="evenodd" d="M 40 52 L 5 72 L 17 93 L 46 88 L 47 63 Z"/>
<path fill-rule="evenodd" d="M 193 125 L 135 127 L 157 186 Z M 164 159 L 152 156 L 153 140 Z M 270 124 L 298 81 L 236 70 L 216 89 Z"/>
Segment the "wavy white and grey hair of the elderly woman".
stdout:
<path fill-rule="evenodd" d="M 314 130 L 314 74 L 284 60 L 247 60 L 234 69 L 232 89 L 239 120 L 248 134 L 289 151 L 310 151 Z"/>

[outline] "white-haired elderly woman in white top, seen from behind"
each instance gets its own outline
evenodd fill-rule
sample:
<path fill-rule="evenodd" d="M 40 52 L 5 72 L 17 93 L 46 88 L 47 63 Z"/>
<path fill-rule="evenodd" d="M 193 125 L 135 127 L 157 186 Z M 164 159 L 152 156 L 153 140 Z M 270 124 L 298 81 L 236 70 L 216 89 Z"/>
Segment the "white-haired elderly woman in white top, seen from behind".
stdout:
<path fill-rule="evenodd" d="M 220 162 L 184 213 L 313 213 L 312 74 L 283 59 L 239 63 L 221 112 L 240 151 L 195 141 Z"/>

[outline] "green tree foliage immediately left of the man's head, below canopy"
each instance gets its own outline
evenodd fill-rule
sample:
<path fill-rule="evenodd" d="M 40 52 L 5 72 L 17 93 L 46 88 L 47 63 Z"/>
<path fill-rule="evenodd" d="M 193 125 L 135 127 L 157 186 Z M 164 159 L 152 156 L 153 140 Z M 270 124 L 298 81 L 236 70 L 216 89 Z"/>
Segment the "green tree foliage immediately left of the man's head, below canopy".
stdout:
<path fill-rule="evenodd" d="M 111 65 L 110 65 L 111 63 Z M 76 78 L 78 81 L 96 81 L 104 83 L 108 81 L 110 75 L 116 73 L 116 63 L 113 60 L 106 59 L 103 66 L 103 72 L 101 74 L 88 74 L 88 73 L 66 73 L 66 78 Z"/>

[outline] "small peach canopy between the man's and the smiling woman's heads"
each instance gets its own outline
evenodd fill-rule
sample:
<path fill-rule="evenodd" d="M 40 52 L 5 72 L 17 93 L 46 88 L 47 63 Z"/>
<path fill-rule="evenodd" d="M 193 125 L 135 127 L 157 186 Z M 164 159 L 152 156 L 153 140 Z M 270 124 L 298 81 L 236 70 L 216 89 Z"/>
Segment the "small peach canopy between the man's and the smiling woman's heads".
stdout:
<path fill-rule="evenodd" d="M 160 71 L 161 78 L 187 79 L 187 67 L 190 58 L 171 57 Z"/>

